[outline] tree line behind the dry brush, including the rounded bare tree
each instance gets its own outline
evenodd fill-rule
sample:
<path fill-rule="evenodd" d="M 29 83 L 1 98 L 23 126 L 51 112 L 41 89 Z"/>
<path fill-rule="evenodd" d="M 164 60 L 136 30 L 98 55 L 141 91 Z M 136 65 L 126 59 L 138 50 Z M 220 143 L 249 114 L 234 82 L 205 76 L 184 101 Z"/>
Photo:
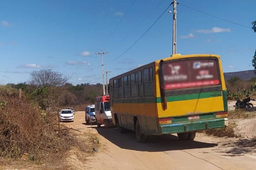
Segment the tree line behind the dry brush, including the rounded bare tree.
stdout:
<path fill-rule="evenodd" d="M 21 89 L 25 96 L 35 105 L 46 111 L 55 111 L 61 106 L 91 104 L 95 97 L 103 95 L 102 84 L 68 83 L 70 77 L 51 69 L 35 70 L 29 74 L 28 83 L 9 83 Z"/>

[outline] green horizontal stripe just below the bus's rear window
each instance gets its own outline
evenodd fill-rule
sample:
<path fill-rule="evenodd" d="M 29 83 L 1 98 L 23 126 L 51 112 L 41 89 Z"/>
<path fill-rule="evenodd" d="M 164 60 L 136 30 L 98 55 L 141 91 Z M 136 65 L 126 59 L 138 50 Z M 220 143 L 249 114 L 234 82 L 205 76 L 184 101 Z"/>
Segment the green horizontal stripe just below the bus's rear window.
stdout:
<path fill-rule="evenodd" d="M 209 92 L 200 92 L 200 93 L 186 94 L 186 95 L 175 95 L 175 96 L 168 96 L 167 102 L 219 97 L 221 95 L 222 95 L 222 91 L 209 91 Z M 161 98 L 158 97 L 156 99 L 156 102 L 161 103 Z"/>

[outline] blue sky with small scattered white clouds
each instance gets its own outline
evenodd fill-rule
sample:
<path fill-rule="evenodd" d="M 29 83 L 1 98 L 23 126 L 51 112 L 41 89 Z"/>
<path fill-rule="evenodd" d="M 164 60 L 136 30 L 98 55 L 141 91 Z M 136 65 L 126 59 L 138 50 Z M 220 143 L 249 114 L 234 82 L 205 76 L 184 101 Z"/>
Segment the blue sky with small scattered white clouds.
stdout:
<path fill-rule="evenodd" d="M 256 20 L 255 0 L 177 1 L 247 27 Z M 104 63 L 123 53 L 170 0 L 136 0 L 132 5 L 133 2 L 0 1 L 0 84 L 27 82 L 29 72 L 43 68 L 71 76 L 72 84 L 102 83 L 101 58 L 95 53 L 110 52 L 104 55 Z M 104 70 L 111 71 L 111 78 L 168 57 L 171 45 L 172 14 L 166 12 L 132 49 L 105 65 Z M 177 5 L 177 53 L 219 54 L 224 71 L 231 72 L 253 69 L 255 49 L 256 33 L 252 29 Z"/>

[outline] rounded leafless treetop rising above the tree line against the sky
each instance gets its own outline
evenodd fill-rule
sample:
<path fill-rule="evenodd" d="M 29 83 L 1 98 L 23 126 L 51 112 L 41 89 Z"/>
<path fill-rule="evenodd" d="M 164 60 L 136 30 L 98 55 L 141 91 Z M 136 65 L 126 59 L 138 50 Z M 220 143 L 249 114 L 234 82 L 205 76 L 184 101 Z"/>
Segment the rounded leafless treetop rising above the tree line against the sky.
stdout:
<path fill-rule="evenodd" d="M 38 87 L 61 86 L 69 80 L 69 77 L 52 71 L 51 69 L 43 69 L 32 71 L 30 73 L 29 83 Z"/>

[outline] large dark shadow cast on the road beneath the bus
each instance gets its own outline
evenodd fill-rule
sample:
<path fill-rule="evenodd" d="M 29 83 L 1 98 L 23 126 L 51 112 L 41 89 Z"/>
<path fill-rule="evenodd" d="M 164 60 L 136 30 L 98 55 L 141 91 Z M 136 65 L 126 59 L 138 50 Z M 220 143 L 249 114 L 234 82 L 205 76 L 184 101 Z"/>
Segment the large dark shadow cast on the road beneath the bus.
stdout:
<path fill-rule="evenodd" d="M 135 133 L 128 131 L 121 134 L 115 128 L 95 128 L 100 135 L 114 143 L 116 146 L 123 149 L 148 151 L 148 152 L 160 152 L 171 150 L 183 150 L 183 149 L 196 149 L 196 148 L 210 148 L 215 147 L 216 143 L 205 143 L 196 140 L 179 141 L 174 135 L 159 135 L 151 136 L 146 143 L 138 143 L 135 139 Z"/>

